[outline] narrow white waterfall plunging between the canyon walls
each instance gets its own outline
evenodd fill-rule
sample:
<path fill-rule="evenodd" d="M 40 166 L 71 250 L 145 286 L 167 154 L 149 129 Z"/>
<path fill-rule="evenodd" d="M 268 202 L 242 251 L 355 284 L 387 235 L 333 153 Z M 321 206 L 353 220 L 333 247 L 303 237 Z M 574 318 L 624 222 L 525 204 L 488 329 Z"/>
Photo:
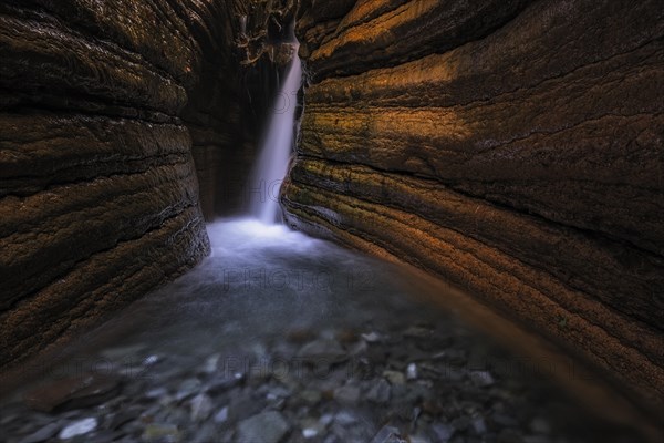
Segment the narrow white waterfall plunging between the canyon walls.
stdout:
<path fill-rule="evenodd" d="M 293 134 L 298 90 L 302 82 L 302 65 L 295 55 L 281 85 L 260 157 L 251 175 L 251 216 L 264 224 L 274 224 L 279 216 L 279 189 L 293 151 Z"/>

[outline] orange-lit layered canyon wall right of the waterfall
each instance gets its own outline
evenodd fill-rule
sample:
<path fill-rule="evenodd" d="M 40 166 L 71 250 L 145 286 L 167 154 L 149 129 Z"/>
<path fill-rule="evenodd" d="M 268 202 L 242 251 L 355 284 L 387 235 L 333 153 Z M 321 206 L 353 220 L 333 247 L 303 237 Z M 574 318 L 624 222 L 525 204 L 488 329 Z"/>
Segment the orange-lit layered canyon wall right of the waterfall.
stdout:
<path fill-rule="evenodd" d="M 302 1 L 287 222 L 406 261 L 664 404 L 664 9 Z"/>

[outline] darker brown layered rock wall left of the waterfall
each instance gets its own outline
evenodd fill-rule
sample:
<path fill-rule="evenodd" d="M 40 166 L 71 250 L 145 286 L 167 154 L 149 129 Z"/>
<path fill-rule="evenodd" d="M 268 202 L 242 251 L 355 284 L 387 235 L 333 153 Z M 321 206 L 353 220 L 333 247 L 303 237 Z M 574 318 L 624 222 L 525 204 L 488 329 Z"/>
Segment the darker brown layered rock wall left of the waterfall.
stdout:
<path fill-rule="evenodd" d="M 208 253 L 178 115 L 221 12 L 193 0 L 0 3 L 0 365 Z"/>

